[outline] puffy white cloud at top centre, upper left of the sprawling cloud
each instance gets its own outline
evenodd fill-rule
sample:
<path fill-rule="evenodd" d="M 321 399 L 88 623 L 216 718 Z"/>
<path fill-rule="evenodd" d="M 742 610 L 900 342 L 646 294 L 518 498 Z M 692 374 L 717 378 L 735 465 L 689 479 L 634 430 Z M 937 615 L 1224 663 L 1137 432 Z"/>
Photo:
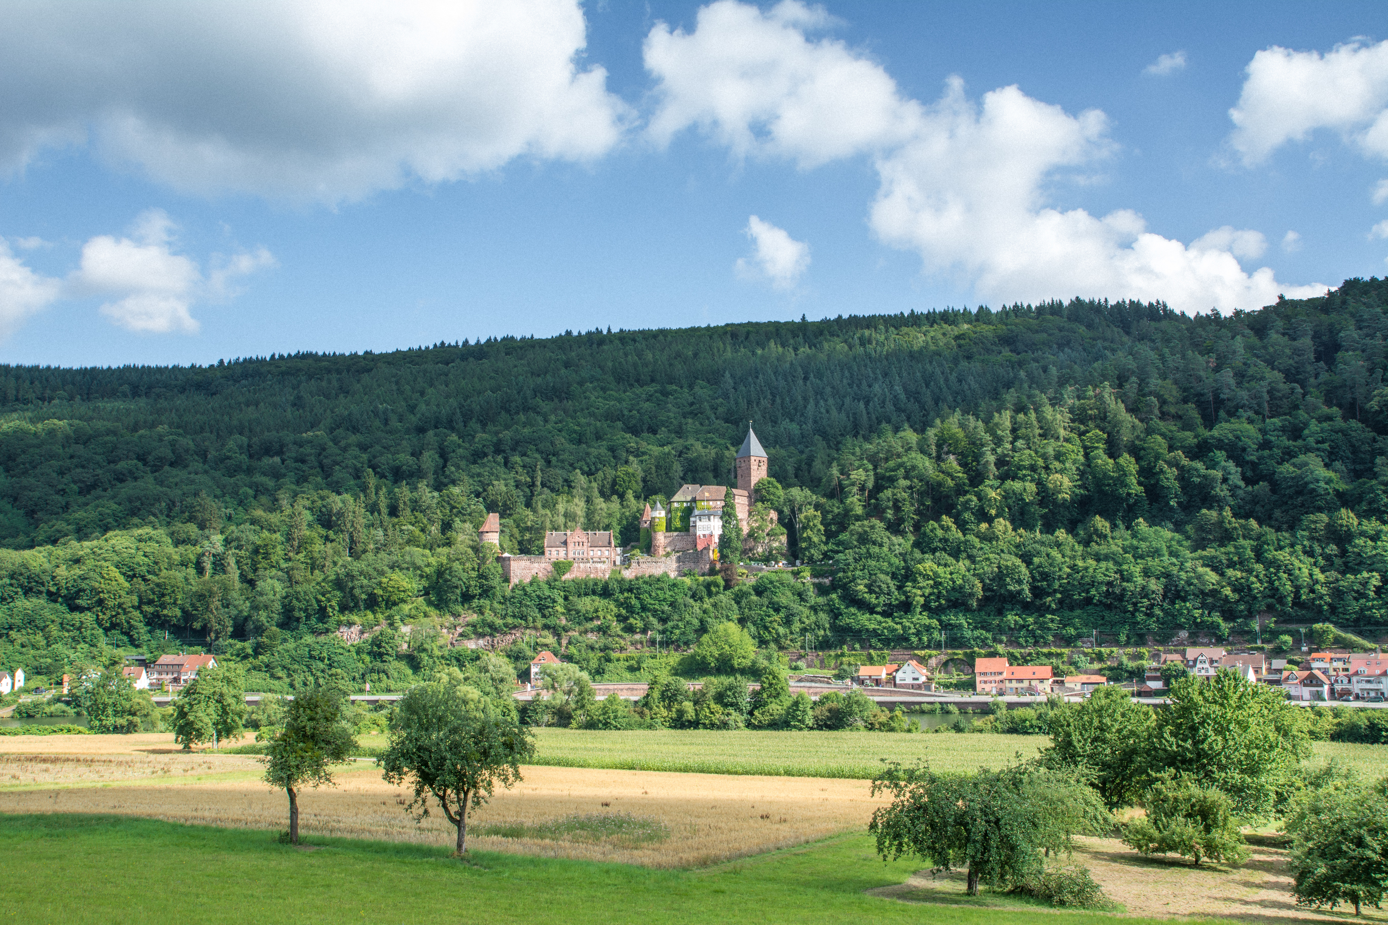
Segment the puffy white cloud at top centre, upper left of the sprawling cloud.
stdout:
<path fill-rule="evenodd" d="M 802 168 L 909 139 L 919 104 L 843 42 L 806 37 L 824 25 L 822 11 L 795 0 L 768 12 L 719 0 L 698 11 L 691 33 L 658 24 L 645 39 L 658 82 L 651 139 L 668 144 L 697 126 L 737 157 L 784 157 Z"/>

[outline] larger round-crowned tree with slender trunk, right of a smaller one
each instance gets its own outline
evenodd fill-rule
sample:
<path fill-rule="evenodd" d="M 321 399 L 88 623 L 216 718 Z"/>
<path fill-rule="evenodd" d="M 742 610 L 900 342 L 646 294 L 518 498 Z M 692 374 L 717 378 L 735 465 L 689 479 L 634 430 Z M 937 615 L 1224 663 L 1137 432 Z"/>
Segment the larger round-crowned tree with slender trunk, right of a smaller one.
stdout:
<path fill-rule="evenodd" d="M 534 739 L 520 725 L 515 702 L 486 698 L 448 682 L 411 688 L 396 704 L 390 746 L 380 759 L 390 784 L 409 784 L 405 807 L 429 815 L 433 797 L 458 828 L 458 857 L 466 850 L 468 813 L 480 807 L 497 784 L 520 781 L 520 763 L 534 754 Z"/>

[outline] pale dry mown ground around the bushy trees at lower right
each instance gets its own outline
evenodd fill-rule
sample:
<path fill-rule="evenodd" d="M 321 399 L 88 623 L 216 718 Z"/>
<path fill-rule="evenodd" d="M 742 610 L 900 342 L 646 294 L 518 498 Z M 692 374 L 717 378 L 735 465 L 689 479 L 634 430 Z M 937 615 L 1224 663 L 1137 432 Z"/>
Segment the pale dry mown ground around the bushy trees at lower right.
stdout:
<path fill-rule="evenodd" d="M 1081 864 L 1124 906 L 1128 915 L 1191 915 L 1233 918 L 1246 922 L 1344 921 L 1345 915 L 1301 908 L 1292 900 L 1287 851 L 1251 845 L 1244 867 L 1192 867 L 1185 858 L 1142 857 L 1116 839 L 1081 838 L 1080 847 L 1066 863 Z M 906 883 L 869 890 L 916 903 L 1006 906 L 1010 897 L 965 894 L 962 871 L 931 876 L 920 871 Z M 1040 911 L 1040 910 L 1035 910 Z M 1342 911 L 1342 910 L 1341 910 Z M 1353 911 L 1353 908 L 1351 908 Z M 1363 921 L 1385 921 L 1388 915 L 1364 910 Z M 1352 917 L 1351 917 L 1352 918 Z"/>

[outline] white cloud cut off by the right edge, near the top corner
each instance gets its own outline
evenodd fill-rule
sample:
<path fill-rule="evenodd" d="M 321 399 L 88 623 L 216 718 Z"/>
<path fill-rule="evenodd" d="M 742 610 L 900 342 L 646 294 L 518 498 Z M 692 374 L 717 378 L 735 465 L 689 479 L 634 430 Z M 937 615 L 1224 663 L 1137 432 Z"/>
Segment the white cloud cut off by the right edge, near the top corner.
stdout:
<path fill-rule="evenodd" d="M 1316 129 L 1339 132 L 1364 154 L 1388 157 L 1388 42 L 1349 42 L 1327 54 L 1280 46 L 1253 55 L 1230 110 L 1230 143 L 1245 164 Z"/>

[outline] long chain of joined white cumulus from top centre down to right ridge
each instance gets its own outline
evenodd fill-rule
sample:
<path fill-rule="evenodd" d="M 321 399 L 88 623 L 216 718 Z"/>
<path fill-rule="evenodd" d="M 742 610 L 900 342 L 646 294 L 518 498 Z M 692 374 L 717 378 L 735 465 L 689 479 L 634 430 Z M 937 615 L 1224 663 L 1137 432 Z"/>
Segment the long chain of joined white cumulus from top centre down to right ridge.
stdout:
<path fill-rule="evenodd" d="M 1258 232 L 1216 229 L 1190 247 L 1146 230 L 1141 215 L 1094 216 L 1048 202 L 1056 180 L 1092 171 L 1113 148 L 1099 111 L 1072 115 L 1016 86 L 974 101 L 952 78 L 941 98 L 902 97 L 876 62 L 812 39 L 815 11 L 719 0 L 694 32 L 657 25 L 645 43 L 658 79 L 657 141 L 697 128 L 734 154 L 802 168 L 872 153 L 880 178 L 870 225 L 990 300 L 1091 295 L 1166 300 L 1185 312 L 1258 308 L 1295 287 L 1239 259 L 1266 248 Z"/>

